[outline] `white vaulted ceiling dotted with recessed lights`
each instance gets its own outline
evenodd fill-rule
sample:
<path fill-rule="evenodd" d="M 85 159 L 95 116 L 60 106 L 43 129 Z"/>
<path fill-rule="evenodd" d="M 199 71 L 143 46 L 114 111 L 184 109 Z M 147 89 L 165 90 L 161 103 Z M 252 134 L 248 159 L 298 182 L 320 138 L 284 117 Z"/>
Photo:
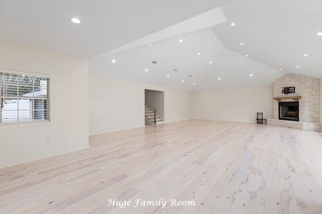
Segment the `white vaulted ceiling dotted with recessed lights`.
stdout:
<path fill-rule="evenodd" d="M 0 37 L 88 59 L 90 73 L 113 78 L 258 87 L 286 73 L 322 78 L 320 11 L 321 1 L 302 0 L 0 0 Z"/>

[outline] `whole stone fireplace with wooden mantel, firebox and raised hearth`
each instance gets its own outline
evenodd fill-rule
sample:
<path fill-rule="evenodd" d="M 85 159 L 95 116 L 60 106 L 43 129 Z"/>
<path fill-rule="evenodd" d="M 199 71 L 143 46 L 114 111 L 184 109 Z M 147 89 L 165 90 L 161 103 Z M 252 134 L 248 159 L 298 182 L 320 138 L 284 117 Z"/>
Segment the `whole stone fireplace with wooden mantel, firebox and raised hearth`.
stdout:
<path fill-rule="evenodd" d="M 320 80 L 286 74 L 274 81 L 274 118 L 268 125 L 321 130 L 319 121 Z"/>

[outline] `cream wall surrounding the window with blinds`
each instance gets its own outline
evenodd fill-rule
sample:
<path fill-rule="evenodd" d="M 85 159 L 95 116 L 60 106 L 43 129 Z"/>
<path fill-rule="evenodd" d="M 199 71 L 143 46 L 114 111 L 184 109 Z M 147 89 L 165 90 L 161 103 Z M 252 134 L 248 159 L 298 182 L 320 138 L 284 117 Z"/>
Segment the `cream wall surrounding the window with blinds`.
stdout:
<path fill-rule="evenodd" d="M 89 147 L 88 60 L 0 38 L 0 68 L 49 76 L 51 111 L 47 125 L 0 127 L 0 168 Z"/>

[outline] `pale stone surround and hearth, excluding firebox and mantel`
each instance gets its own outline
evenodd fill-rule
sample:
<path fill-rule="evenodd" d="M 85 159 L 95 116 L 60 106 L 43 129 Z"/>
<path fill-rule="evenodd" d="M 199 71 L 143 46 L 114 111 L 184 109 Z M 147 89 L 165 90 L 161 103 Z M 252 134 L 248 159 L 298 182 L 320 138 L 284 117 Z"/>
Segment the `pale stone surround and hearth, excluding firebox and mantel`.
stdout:
<path fill-rule="evenodd" d="M 284 87 L 295 87 L 294 94 L 282 93 Z M 299 121 L 278 119 L 278 101 L 274 100 L 274 118 L 268 119 L 267 124 L 292 127 L 306 130 L 320 130 L 320 79 L 298 74 L 286 74 L 274 81 L 274 97 L 301 96 L 299 101 Z M 294 101 L 284 99 L 281 102 Z"/>

